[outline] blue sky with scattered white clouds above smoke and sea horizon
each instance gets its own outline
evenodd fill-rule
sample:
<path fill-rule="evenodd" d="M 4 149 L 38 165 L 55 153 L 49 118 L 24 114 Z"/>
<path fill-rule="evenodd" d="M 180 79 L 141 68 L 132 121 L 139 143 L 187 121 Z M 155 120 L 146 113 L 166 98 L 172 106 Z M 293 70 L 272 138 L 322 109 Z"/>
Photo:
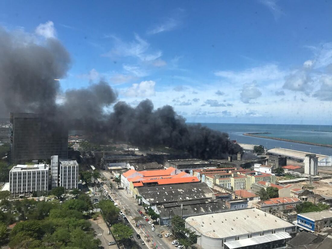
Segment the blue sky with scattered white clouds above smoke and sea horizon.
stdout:
<path fill-rule="evenodd" d="M 55 37 L 63 90 L 104 78 L 119 100 L 189 122 L 330 124 L 331 1 L 1 1 L 0 25 Z"/>

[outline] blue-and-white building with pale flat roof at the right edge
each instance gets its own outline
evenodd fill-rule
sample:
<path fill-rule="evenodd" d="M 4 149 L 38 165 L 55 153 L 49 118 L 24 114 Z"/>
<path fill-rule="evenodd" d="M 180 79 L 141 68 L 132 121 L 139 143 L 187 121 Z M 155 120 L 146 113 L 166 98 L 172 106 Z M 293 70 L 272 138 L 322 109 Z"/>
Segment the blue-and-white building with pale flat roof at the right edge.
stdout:
<path fill-rule="evenodd" d="M 324 227 L 332 227 L 332 210 L 297 214 L 297 227 L 318 234 Z"/>

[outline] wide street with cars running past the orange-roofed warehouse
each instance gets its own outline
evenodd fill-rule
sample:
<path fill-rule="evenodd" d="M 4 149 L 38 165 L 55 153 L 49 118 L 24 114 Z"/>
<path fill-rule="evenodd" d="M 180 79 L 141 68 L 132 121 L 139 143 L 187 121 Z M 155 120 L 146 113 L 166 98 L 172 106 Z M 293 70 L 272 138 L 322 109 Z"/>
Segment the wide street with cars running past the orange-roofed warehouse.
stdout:
<path fill-rule="evenodd" d="M 108 171 L 100 171 L 101 174 L 104 175 L 104 177 L 107 179 L 107 181 L 111 184 L 113 184 L 110 180 L 111 173 Z M 108 190 L 108 187 L 104 185 L 106 190 Z M 111 193 L 111 191 L 109 191 Z M 141 209 L 143 211 L 142 206 L 138 206 L 136 204 L 136 200 L 130 195 L 127 194 L 125 190 L 118 190 L 118 187 L 116 184 L 113 184 L 113 189 L 112 189 L 111 196 L 114 199 L 116 203 L 118 203 L 120 209 L 124 212 L 124 210 L 127 210 L 126 217 L 128 218 L 130 224 L 132 227 L 135 226 L 135 221 L 133 220 L 134 217 L 140 216 L 138 213 L 137 209 Z M 124 212 L 125 213 L 125 212 Z M 148 216 L 147 214 L 145 214 Z M 149 217 L 149 220 L 150 217 Z M 152 221 L 152 220 L 151 220 Z M 142 218 L 141 220 L 138 221 L 139 224 L 142 224 L 141 227 L 134 227 L 136 231 L 139 231 L 139 234 L 141 235 L 142 238 L 144 238 L 145 243 L 147 243 L 147 237 L 149 240 L 152 242 L 152 245 L 158 246 L 158 248 L 162 249 L 174 249 L 174 246 L 172 246 L 171 242 L 174 240 L 173 237 L 169 238 L 159 238 L 157 236 L 158 233 L 163 234 L 163 236 L 168 233 L 168 228 L 167 227 L 160 227 L 159 225 L 155 226 L 155 231 L 151 230 L 151 226 Z M 135 235 L 134 235 L 135 238 Z M 142 246 L 143 248 L 143 246 Z M 153 248 L 151 247 L 151 243 L 149 242 L 149 247 L 148 248 Z"/>

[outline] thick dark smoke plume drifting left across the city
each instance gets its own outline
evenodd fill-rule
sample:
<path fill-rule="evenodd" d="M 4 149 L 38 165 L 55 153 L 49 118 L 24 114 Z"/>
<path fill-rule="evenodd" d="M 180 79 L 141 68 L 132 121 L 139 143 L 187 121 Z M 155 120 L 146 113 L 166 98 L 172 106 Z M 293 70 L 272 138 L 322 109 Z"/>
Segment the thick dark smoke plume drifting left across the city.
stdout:
<path fill-rule="evenodd" d="M 105 81 L 62 93 L 58 81 L 70 68 L 70 56 L 56 39 L 36 41 L 32 35 L 0 28 L 0 115 L 41 113 L 65 125 L 80 126 L 114 141 L 149 147 L 167 146 L 193 157 L 224 158 L 241 147 L 227 133 L 201 125 L 187 125 L 171 106 L 153 110 L 150 100 L 132 108 L 114 105 L 117 94 Z"/>

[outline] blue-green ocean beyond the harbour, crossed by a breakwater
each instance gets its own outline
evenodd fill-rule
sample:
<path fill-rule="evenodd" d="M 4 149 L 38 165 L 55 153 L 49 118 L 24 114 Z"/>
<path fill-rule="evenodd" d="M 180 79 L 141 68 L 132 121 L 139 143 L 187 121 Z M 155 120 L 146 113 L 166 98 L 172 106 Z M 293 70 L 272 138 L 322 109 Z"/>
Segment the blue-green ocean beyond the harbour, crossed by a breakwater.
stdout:
<path fill-rule="evenodd" d="M 236 140 L 238 143 L 261 144 L 263 146 L 267 146 L 268 149 L 282 147 L 286 149 L 300 150 L 323 155 L 332 155 L 332 148 L 329 147 L 243 135 L 243 133 L 250 132 L 270 132 L 270 134 L 262 135 L 304 142 L 332 144 L 332 125 L 220 123 L 201 124 L 214 130 L 227 132 L 230 139 Z"/>

